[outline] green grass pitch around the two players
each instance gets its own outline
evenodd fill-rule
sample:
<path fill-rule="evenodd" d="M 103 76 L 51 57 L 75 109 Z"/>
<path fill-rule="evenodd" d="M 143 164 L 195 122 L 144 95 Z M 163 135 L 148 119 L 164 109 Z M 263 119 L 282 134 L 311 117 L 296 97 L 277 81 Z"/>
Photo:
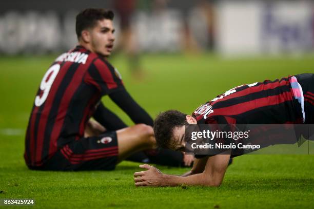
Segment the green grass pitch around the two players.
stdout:
<path fill-rule="evenodd" d="M 54 56 L 0 58 L 0 199 L 33 198 L 43 208 L 313 208 L 313 155 L 245 155 L 234 159 L 220 187 L 135 187 L 139 163 L 122 162 L 112 172 L 38 172 L 24 160 L 24 132 L 40 81 Z M 241 84 L 314 72 L 312 55 L 291 58 L 223 59 L 212 54 L 144 55 L 142 79 L 127 59 L 111 62 L 152 117 L 159 111 L 191 113 L 200 104 Z M 113 111 L 128 117 L 107 98 Z M 158 166 L 182 174 L 186 168 Z M 1 207 L 1 206 L 0 206 Z M 4 206 L 6 207 L 6 206 Z"/>

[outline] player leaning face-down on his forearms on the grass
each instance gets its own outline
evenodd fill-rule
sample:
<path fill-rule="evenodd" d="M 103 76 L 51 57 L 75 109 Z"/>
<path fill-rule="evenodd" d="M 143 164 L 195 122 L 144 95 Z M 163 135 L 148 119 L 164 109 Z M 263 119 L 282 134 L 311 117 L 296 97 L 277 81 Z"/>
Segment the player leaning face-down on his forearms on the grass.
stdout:
<path fill-rule="evenodd" d="M 186 124 L 312 124 L 314 74 L 241 85 L 205 103 L 203 107 L 210 111 L 198 108 L 192 116 L 176 110 L 161 113 L 154 122 L 157 143 L 175 150 L 185 149 Z M 134 173 L 135 186 L 218 186 L 226 172 L 229 151 L 213 156 L 195 155 L 199 159 L 183 176 L 166 175 L 148 164 L 140 165 L 147 170 Z"/>

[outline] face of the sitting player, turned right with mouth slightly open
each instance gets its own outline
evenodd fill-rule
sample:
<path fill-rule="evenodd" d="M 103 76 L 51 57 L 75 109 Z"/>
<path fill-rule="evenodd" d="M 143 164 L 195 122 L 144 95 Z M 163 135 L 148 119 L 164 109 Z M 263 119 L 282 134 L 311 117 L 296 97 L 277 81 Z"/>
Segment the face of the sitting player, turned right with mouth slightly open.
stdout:
<path fill-rule="evenodd" d="M 111 54 L 114 42 L 114 28 L 111 20 L 97 21 L 97 25 L 90 30 L 91 50 L 105 57 Z"/>

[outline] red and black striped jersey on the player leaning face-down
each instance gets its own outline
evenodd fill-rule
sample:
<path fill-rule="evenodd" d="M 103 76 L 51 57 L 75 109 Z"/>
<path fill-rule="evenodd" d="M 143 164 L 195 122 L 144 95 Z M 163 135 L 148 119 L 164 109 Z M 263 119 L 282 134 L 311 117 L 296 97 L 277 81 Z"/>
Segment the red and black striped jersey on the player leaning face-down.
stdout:
<path fill-rule="evenodd" d="M 301 105 L 291 88 L 291 77 L 241 85 L 197 108 L 198 123 L 302 123 Z"/>

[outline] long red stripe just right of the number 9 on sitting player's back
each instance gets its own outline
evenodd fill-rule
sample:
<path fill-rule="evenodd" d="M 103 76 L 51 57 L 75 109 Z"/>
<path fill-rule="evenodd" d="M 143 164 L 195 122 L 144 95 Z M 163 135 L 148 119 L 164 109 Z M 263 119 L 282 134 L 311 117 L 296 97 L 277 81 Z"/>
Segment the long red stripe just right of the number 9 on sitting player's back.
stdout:
<path fill-rule="evenodd" d="M 43 143 L 44 143 L 44 136 L 45 136 L 45 130 L 47 126 L 47 121 L 49 117 L 50 110 L 52 108 L 53 100 L 55 97 L 55 94 L 60 86 L 60 84 L 63 81 L 63 78 L 65 77 L 69 67 L 72 65 L 71 62 L 66 62 L 60 71 L 58 72 L 57 76 L 55 77 L 55 80 L 53 81 L 53 84 L 50 88 L 48 97 L 45 101 L 45 106 L 41 113 L 41 119 L 38 124 L 38 135 L 37 135 L 37 153 L 36 153 L 36 163 L 40 163 L 42 161 L 42 153 L 43 153 Z M 49 156 L 50 157 L 50 156 Z"/>

